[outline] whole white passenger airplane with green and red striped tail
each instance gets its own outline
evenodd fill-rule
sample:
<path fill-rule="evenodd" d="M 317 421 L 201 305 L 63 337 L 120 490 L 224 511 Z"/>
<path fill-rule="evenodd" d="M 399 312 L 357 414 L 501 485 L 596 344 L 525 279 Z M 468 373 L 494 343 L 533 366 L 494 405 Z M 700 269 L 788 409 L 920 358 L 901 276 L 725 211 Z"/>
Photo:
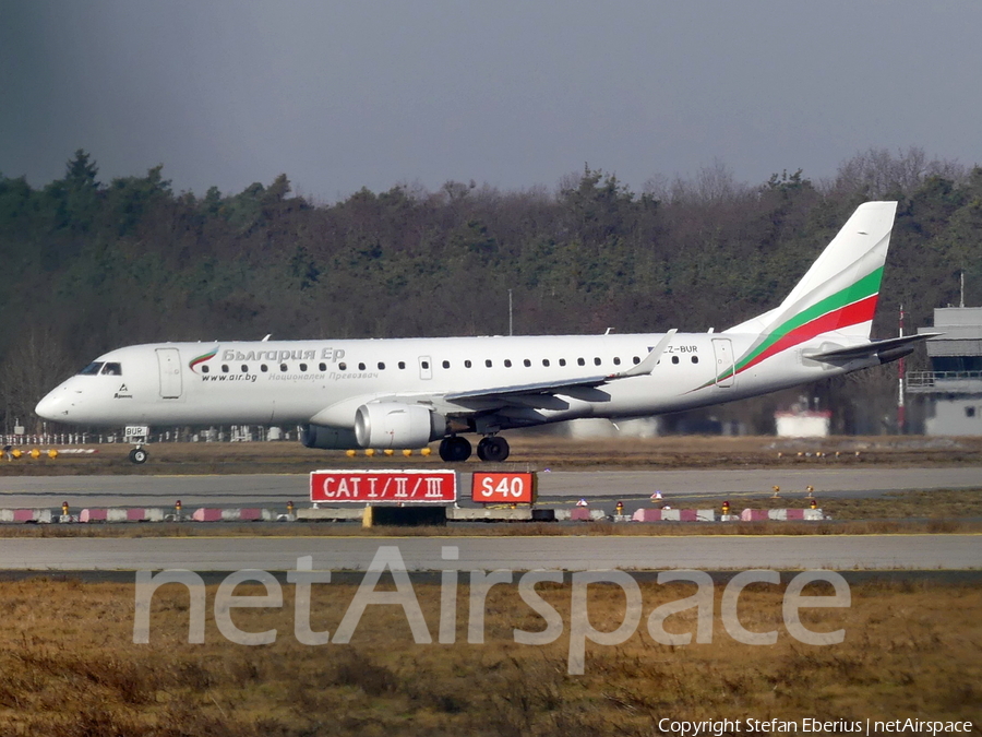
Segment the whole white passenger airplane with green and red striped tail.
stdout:
<path fill-rule="evenodd" d="M 504 461 L 500 433 L 731 402 L 877 366 L 937 333 L 871 341 L 896 202 L 860 205 L 775 309 L 722 332 L 155 343 L 111 350 L 37 405 L 88 426 L 298 425 L 308 448 Z M 135 463 L 146 461 L 137 445 Z"/>

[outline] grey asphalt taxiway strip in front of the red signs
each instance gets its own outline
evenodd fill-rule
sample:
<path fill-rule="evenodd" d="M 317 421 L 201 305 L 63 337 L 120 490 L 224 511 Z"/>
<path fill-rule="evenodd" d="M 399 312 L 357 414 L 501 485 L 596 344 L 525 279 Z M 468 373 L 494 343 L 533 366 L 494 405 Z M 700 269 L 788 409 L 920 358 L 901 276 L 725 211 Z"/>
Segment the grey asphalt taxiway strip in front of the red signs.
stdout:
<path fill-rule="evenodd" d="M 163 537 L 0 539 L 0 568 L 33 571 L 367 570 L 380 548 L 407 570 L 970 570 L 980 535 L 669 537 Z M 445 549 L 454 549 L 446 555 Z M 445 557 L 451 558 L 446 560 Z"/>

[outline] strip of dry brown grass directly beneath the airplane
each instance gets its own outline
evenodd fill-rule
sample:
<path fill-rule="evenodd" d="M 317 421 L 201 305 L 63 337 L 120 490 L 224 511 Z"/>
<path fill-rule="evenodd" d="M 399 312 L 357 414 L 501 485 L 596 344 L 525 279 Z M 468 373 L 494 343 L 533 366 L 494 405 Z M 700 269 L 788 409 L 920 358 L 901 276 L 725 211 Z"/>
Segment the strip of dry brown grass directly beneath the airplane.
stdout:
<path fill-rule="evenodd" d="M 512 456 L 495 467 L 520 471 L 550 467 L 554 471 L 578 468 L 743 468 L 747 466 L 788 465 L 982 465 L 982 438 L 903 437 L 834 437 L 788 439 L 774 437 L 698 437 L 623 438 L 571 440 L 555 436 L 510 435 Z M 88 456 L 62 455 L 57 460 L 21 459 L 0 463 L 3 475 L 75 475 L 75 474 L 255 474 L 308 473 L 325 466 L 405 467 L 442 465 L 435 453 L 423 457 L 387 459 L 359 454 L 347 457 L 342 451 L 303 448 L 297 442 L 251 443 L 153 443 L 147 445 L 151 460 L 134 466 L 127 461 L 129 445 L 98 445 Z M 837 456 L 836 453 L 839 453 Z M 801 453 L 801 455 L 799 455 Z M 822 453 L 822 455 L 817 455 Z M 480 467 L 472 457 L 466 467 Z"/>

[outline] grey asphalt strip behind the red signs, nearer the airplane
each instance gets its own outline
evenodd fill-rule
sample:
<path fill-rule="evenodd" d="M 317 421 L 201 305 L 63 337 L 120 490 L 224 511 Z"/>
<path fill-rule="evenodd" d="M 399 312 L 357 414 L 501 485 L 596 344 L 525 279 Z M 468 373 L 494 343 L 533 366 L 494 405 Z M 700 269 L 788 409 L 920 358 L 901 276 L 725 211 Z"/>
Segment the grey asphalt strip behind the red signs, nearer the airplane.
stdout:
<path fill-rule="evenodd" d="M 469 492 L 469 473 L 460 468 L 462 498 Z M 436 466 L 434 466 L 436 467 Z M 668 499 L 700 499 L 712 506 L 723 498 L 762 496 L 779 486 L 781 494 L 803 496 L 807 486 L 823 497 L 865 497 L 887 491 L 982 488 L 982 467 L 859 467 L 801 465 L 787 468 L 684 471 L 539 472 L 543 501 L 586 497 L 612 507 L 619 499 L 647 499 L 656 490 Z M 306 474 L 211 476 L 0 476 L 0 508 L 50 507 L 68 501 L 82 507 L 169 507 L 178 499 L 192 507 L 302 504 L 309 499 Z"/>

